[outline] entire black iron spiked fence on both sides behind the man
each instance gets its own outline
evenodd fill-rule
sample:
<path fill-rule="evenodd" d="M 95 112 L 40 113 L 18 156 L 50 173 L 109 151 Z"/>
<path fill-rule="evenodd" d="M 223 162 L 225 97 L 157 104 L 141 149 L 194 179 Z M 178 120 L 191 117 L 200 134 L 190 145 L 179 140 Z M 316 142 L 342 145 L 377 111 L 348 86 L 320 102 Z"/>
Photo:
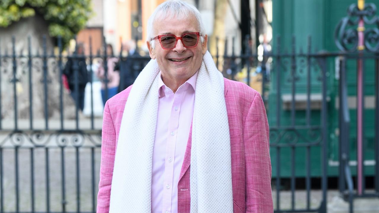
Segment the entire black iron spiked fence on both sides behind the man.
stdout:
<path fill-rule="evenodd" d="M 349 195 L 346 199 L 350 198 L 352 204 L 357 184 L 352 181 L 354 167 L 348 164 L 351 109 L 346 70 L 355 68 L 345 61 L 375 62 L 372 85 L 378 113 L 379 55 L 315 53 L 310 39 L 307 51 L 298 51 L 293 39 L 291 51 L 286 53 L 279 38 L 271 52 L 257 54 L 246 42 L 246 51 L 236 53 L 234 39 L 230 41 L 231 53 L 227 48 L 224 53 L 217 49 L 215 64 L 224 76 L 262 93 L 270 126 L 275 212 L 326 212 L 328 176 L 339 177 L 339 189 Z M 107 70 L 104 62 L 115 56 L 83 55 L 79 50 L 63 54 L 59 39 L 58 50 L 51 51 L 44 39 L 42 54 L 31 50 L 30 40 L 26 53 L 16 51 L 14 39 L 11 43 L 9 54 L 0 49 L 0 212 L 95 212 L 102 124 L 102 113 L 96 108 L 101 109 L 100 90 L 107 94 L 106 83 L 110 80 L 107 72 L 102 81 L 95 73 L 97 65 Z M 150 60 L 148 55 L 139 54 L 117 58 L 119 90 L 131 84 Z M 67 74 L 68 61 L 72 63 L 72 75 Z M 83 67 L 88 78 L 84 87 L 80 85 Z M 78 93 L 83 88 L 85 101 L 81 106 L 83 97 Z M 339 107 L 335 106 L 337 96 Z M 334 116 L 336 113 L 340 116 Z M 340 122 L 339 141 L 330 137 L 334 120 Z M 370 126 L 376 132 L 372 152 L 378 162 L 377 114 L 374 120 L 376 124 Z M 340 169 L 335 174 L 328 163 L 331 145 L 339 147 Z M 368 168 L 374 170 L 370 174 L 375 178 L 371 196 L 379 193 L 378 168 L 378 164 Z M 305 180 L 304 188 L 299 186 L 299 179 Z M 311 201 L 312 197 L 316 202 Z"/>

